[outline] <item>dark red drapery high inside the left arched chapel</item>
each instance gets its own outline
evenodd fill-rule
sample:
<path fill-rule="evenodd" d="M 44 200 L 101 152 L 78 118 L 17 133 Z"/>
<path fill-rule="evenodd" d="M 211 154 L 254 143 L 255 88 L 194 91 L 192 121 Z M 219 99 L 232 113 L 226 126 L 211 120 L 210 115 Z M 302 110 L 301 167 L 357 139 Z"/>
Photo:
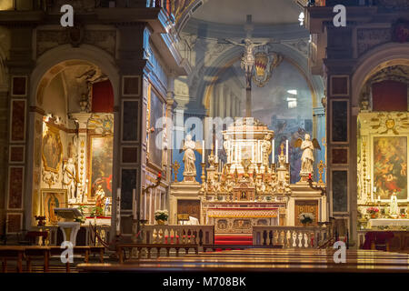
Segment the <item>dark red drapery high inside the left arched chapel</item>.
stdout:
<path fill-rule="evenodd" d="M 109 80 L 93 84 L 92 112 L 114 112 L 114 90 Z"/>

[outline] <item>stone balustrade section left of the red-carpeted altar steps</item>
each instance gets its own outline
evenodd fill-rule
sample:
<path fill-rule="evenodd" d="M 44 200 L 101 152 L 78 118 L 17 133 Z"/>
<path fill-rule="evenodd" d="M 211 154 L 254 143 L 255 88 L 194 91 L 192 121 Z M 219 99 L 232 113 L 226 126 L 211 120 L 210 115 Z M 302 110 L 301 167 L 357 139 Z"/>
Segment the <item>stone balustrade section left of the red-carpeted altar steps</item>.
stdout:
<path fill-rule="evenodd" d="M 143 244 L 212 245 L 214 226 L 142 226 Z"/>

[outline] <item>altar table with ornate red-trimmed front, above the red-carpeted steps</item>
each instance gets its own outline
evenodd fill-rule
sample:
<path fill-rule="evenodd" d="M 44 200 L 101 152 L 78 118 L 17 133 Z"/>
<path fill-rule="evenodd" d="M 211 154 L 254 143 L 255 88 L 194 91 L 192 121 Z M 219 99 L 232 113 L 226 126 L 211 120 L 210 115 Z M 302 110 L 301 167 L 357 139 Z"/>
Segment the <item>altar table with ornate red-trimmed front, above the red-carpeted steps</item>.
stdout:
<path fill-rule="evenodd" d="M 225 203 L 203 204 L 206 225 L 214 225 L 214 233 L 251 234 L 253 226 L 279 226 L 285 203 Z"/>

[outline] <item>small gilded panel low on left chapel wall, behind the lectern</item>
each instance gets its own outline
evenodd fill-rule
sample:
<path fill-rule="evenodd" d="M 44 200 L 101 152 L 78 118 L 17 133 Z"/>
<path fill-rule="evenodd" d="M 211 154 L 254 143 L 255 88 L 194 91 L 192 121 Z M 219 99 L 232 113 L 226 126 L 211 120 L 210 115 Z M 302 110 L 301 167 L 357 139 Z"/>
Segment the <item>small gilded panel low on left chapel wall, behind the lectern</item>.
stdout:
<path fill-rule="evenodd" d="M 42 215 L 45 216 L 47 226 L 55 226 L 60 218 L 54 209 L 67 207 L 66 189 L 41 189 Z"/>

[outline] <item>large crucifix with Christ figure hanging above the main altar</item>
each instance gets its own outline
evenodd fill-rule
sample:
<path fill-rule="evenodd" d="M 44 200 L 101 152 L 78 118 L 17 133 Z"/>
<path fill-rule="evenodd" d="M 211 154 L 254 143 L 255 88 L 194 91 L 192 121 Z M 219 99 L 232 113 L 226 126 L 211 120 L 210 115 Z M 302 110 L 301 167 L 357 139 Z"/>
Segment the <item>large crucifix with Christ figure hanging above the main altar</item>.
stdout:
<path fill-rule="evenodd" d="M 247 21 L 244 25 L 246 33 L 244 41 L 237 43 L 233 40 L 226 39 L 227 42 L 233 45 L 244 46 L 244 55 L 242 57 L 241 67 L 245 74 L 245 116 L 250 117 L 252 115 L 252 76 L 254 68 L 254 48 L 260 45 L 266 45 L 269 40 L 262 43 L 254 43 L 251 39 L 254 25 L 252 23 L 252 15 L 247 15 Z"/>

